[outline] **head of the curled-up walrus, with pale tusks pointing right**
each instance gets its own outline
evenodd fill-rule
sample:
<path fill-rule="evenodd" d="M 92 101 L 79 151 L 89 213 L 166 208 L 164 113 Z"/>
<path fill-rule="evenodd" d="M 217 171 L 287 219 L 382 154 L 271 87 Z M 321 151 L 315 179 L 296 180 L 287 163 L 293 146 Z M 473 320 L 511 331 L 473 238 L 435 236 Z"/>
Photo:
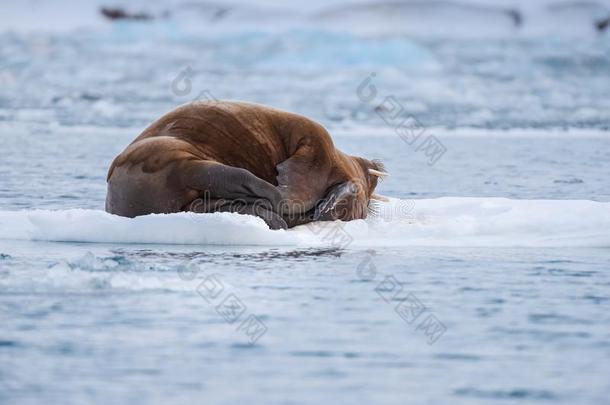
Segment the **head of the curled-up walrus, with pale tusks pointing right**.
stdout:
<path fill-rule="evenodd" d="M 383 163 L 357 156 L 347 158 L 351 163 L 347 170 L 348 179 L 328 190 L 326 197 L 316 206 L 314 220 L 364 219 L 369 213 L 377 212 L 378 201 L 388 201 L 386 197 L 375 194 L 379 181 L 388 175 Z"/>

